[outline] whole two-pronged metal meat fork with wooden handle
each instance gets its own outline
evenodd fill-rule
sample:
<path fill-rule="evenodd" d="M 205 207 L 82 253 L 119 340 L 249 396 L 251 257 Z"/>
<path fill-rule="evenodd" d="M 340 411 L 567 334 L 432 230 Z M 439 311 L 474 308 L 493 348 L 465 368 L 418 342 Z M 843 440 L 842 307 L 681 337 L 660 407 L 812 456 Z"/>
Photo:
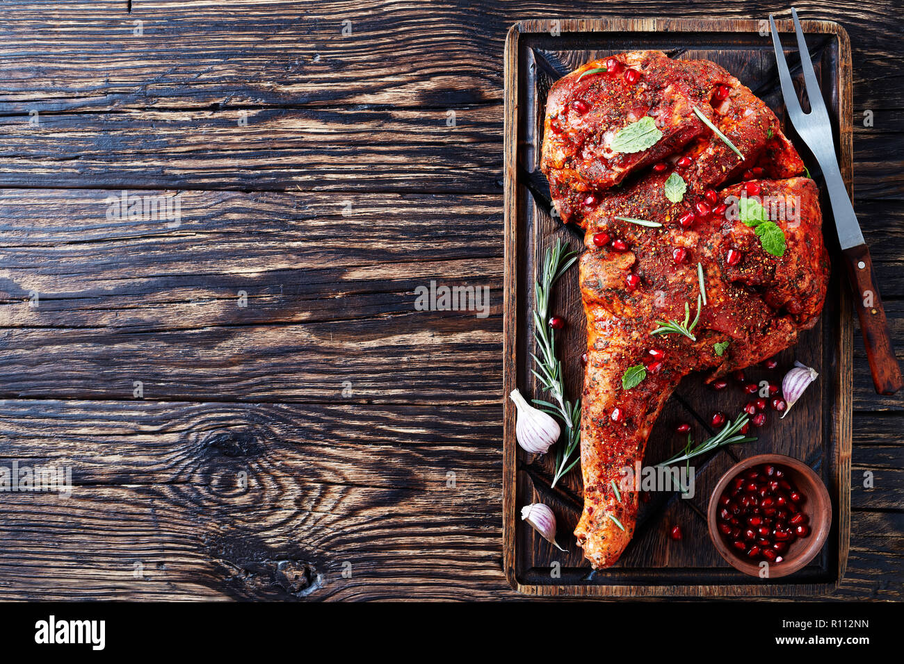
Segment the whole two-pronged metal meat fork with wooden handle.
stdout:
<path fill-rule="evenodd" d="M 825 185 L 832 202 L 835 227 L 838 229 L 838 240 L 847 264 L 848 276 L 854 289 L 855 306 L 860 316 L 860 327 L 863 332 L 863 343 L 866 356 L 870 360 L 872 382 L 879 394 L 892 395 L 902 385 L 901 369 L 895 351 L 891 347 L 889 323 L 885 320 L 885 310 L 876 287 L 876 276 L 872 270 L 870 249 L 863 240 L 860 223 L 853 212 L 851 199 L 844 187 L 842 174 L 835 159 L 835 148 L 832 126 L 825 111 L 823 94 L 816 82 L 813 61 L 806 48 L 804 32 L 801 30 L 797 12 L 791 9 L 797 33 L 797 51 L 800 53 L 800 67 L 804 71 L 804 89 L 810 99 L 810 112 L 804 113 L 797 99 L 791 74 L 782 51 L 782 42 L 778 38 L 776 22 L 769 14 L 769 26 L 772 32 L 772 45 L 776 51 L 778 78 L 782 84 L 782 96 L 785 98 L 788 117 L 797 133 L 819 162 L 823 170 Z"/>

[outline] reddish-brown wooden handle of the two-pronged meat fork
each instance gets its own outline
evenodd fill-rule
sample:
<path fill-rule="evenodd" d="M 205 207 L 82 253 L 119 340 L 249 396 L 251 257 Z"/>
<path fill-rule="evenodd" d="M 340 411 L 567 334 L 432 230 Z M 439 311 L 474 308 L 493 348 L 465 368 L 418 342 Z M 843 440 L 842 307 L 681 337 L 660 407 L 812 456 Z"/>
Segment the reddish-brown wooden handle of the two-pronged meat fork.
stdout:
<path fill-rule="evenodd" d="M 862 244 L 844 249 L 843 254 L 854 290 L 854 305 L 860 316 L 866 357 L 870 360 L 872 382 L 879 394 L 892 395 L 902 386 L 901 369 L 891 347 L 889 323 L 876 287 L 870 249 Z"/>

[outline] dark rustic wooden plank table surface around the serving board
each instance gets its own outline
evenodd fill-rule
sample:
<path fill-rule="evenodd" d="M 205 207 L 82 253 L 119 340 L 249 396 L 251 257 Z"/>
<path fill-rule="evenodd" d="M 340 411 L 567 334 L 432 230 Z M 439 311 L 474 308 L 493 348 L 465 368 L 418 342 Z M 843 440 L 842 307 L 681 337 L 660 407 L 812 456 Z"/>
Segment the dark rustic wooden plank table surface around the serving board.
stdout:
<path fill-rule="evenodd" d="M 4 3 L 0 466 L 77 486 L 4 494 L 0 598 L 517 597 L 506 29 L 787 9 L 556 5 Z M 851 34 L 856 207 L 901 355 L 901 6 L 796 7 Z M 488 286 L 487 315 L 419 311 L 431 281 Z M 904 400 L 853 356 L 834 596 L 901 599 Z"/>

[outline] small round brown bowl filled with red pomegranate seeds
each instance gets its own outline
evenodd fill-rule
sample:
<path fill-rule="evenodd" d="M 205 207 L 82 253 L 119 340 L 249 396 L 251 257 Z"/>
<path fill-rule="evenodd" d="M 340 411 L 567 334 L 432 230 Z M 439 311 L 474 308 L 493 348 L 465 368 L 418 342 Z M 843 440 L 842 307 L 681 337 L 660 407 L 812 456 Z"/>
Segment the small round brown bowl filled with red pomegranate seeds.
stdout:
<path fill-rule="evenodd" d="M 805 463 L 758 454 L 722 475 L 708 521 L 712 543 L 731 566 L 777 578 L 794 574 L 822 549 L 832 527 L 832 501 Z"/>

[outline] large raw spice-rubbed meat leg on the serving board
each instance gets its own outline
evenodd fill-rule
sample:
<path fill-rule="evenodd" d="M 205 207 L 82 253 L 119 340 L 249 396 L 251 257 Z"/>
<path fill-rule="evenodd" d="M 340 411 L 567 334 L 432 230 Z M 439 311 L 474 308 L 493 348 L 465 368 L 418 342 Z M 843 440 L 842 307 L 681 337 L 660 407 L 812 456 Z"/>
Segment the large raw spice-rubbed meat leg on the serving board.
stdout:
<path fill-rule="evenodd" d="M 614 152 L 617 133 L 644 117 L 661 132 L 654 145 Z M 625 469 L 643 461 L 681 379 L 708 370 L 712 380 L 766 360 L 818 320 L 829 276 L 818 191 L 797 177 L 804 164 L 749 89 L 712 62 L 658 51 L 589 62 L 560 79 L 549 95 L 541 168 L 562 218 L 586 230 L 584 511 L 575 536 L 592 566 L 611 566 L 636 524 L 638 496 L 623 482 Z M 685 187 L 674 200 L 665 191 L 673 174 Z M 764 217 L 745 211 L 750 201 Z M 780 255 L 776 230 L 767 242 L 761 221 L 780 229 Z M 693 339 L 652 333 L 660 322 L 682 322 L 685 306 L 692 318 L 699 313 Z M 714 344 L 726 341 L 718 355 Z M 624 388 L 626 369 L 637 365 L 645 378 Z"/>

